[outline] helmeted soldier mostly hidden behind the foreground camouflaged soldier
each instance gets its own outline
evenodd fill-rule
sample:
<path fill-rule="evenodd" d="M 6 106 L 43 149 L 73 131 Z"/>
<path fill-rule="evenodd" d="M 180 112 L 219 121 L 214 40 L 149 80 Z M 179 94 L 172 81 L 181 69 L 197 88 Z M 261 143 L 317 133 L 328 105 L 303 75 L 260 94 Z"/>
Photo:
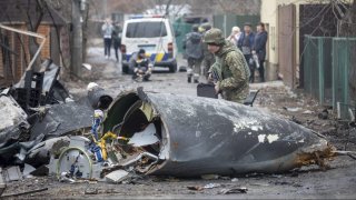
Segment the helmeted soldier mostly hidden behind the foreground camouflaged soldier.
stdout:
<path fill-rule="evenodd" d="M 200 30 L 202 32 L 202 36 L 211 29 L 211 26 L 209 23 L 202 23 L 200 26 Z M 215 57 L 214 54 L 208 50 L 208 44 L 207 43 L 202 43 L 202 74 L 205 74 L 206 79 L 208 79 L 208 71 L 210 69 L 210 67 L 214 64 L 215 62 Z"/>

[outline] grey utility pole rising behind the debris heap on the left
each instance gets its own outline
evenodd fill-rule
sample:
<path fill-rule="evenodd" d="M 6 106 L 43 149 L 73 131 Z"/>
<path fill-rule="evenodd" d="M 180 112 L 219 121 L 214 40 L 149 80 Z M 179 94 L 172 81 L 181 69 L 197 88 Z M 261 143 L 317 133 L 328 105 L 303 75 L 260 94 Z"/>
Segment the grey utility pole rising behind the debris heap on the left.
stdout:
<path fill-rule="evenodd" d="M 71 47 L 71 73 L 81 77 L 82 66 L 82 26 L 80 14 L 80 0 L 71 1 L 72 47 Z"/>

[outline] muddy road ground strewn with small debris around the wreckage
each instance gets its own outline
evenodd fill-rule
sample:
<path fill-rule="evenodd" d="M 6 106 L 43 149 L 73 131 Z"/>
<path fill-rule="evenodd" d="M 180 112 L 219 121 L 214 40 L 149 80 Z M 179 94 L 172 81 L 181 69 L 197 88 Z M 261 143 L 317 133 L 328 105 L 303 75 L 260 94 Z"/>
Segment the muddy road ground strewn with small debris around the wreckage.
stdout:
<path fill-rule="evenodd" d="M 106 60 L 100 48 L 91 48 L 88 62 L 92 71 L 85 71 L 86 79 L 66 82 L 66 87 L 79 98 L 86 94 L 90 81 L 108 90 L 113 97 L 120 91 L 144 87 L 146 91 L 196 96 L 196 84 L 187 83 L 186 73 L 154 73 L 149 82 L 135 82 L 130 76 L 122 76 L 120 64 Z M 179 61 L 179 66 L 184 66 Z M 204 79 L 201 79 L 204 80 Z M 324 134 L 338 150 L 356 151 L 356 131 L 347 123 L 335 120 L 332 110 L 328 119 L 319 119 L 324 107 L 301 91 L 290 91 L 280 81 L 254 83 L 260 89 L 254 107 L 293 120 Z M 37 177 L 9 183 L 4 196 L 33 189 L 48 188 L 42 192 L 24 194 L 24 199 L 355 199 L 356 161 L 349 157 L 336 157 L 328 161 L 329 169 L 316 166 L 304 167 L 283 174 L 246 174 L 236 178 L 219 177 L 214 180 L 179 179 L 174 177 L 141 177 L 131 183 L 110 184 L 106 182 L 62 183 L 53 177 Z M 216 188 L 200 191 L 187 187 Z M 221 194 L 224 189 L 247 188 L 246 193 Z M 12 199 L 17 197 L 9 197 Z M 7 199 L 7 198 L 4 198 Z"/>

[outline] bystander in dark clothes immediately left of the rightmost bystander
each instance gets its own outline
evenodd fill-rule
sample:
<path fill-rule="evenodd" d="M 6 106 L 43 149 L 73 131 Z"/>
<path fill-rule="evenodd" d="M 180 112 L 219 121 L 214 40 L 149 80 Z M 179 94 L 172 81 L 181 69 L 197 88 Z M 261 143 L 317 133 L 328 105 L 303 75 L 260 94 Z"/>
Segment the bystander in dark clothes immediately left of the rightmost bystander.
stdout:
<path fill-rule="evenodd" d="M 255 63 L 253 59 L 253 46 L 255 41 L 255 34 L 251 31 L 251 24 L 246 22 L 244 26 L 244 32 L 241 33 L 237 47 L 243 51 L 244 57 L 250 69 L 249 82 L 255 81 Z"/>

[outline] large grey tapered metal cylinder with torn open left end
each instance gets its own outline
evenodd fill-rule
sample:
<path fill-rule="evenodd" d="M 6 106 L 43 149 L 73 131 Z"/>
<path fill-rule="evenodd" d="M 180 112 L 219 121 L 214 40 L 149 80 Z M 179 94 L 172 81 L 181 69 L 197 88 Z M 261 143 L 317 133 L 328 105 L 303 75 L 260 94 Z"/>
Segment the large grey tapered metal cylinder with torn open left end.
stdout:
<path fill-rule="evenodd" d="M 141 98 L 140 98 L 141 97 Z M 149 103 L 148 120 L 140 106 Z M 121 123 L 119 130 L 113 130 Z M 329 158 L 334 148 L 319 136 L 259 109 L 225 100 L 168 93 L 121 93 L 108 110 L 103 131 L 132 138 L 154 123 L 158 144 L 144 147 L 161 160 L 148 174 L 284 172 Z"/>

